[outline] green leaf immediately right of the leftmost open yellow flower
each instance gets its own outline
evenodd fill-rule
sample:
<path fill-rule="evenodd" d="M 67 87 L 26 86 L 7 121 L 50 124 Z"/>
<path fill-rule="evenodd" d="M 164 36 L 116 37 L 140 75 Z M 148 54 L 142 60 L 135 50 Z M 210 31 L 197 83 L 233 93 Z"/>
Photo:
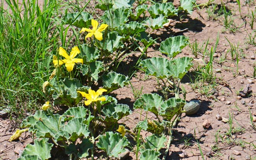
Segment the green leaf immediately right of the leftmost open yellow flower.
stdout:
<path fill-rule="evenodd" d="M 82 57 L 85 64 L 94 62 L 100 57 L 100 51 L 95 47 L 90 47 L 88 44 L 82 44 L 80 51 L 79 56 Z"/>

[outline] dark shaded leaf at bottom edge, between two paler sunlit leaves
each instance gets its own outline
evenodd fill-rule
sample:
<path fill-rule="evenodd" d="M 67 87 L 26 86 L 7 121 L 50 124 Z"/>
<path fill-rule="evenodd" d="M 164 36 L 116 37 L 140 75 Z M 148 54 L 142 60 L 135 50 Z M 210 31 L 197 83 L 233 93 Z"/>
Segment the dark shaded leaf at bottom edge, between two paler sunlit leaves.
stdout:
<path fill-rule="evenodd" d="M 93 143 L 87 138 L 83 138 L 82 143 L 74 145 L 70 143 L 66 148 L 66 154 L 76 154 L 79 158 L 87 158 L 89 156 L 89 149 L 93 148 Z"/>

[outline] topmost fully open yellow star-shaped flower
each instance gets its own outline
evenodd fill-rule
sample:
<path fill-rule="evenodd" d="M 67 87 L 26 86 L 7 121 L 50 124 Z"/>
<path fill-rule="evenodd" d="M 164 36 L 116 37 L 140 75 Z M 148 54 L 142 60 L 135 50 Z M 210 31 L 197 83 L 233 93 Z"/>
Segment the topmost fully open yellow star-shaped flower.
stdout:
<path fill-rule="evenodd" d="M 80 33 L 81 32 L 84 32 L 84 31 L 87 31 L 89 32 L 86 36 L 85 36 L 85 39 L 88 38 L 88 37 L 92 37 L 93 35 L 95 36 L 96 39 L 98 40 L 102 40 L 102 31 L 104 31 L 108 25 L 107 24 L 102 24 L 100 25 L 100 27 L 97 29 L 98 27 L 98 22 L 96 20 L 91 20 L 91 25 L 93 26 L 93 29 L 88 29 L 88 28 L 82 28 Z"/>

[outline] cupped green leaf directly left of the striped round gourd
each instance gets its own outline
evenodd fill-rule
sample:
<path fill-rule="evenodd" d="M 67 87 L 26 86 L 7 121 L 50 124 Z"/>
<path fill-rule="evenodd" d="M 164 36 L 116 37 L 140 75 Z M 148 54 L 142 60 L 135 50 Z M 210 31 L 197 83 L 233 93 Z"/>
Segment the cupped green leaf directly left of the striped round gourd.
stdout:
<path fill-rule="evenodd" d="M 180 98 L 170 98 L 167 101 L 164 101 L 160 107 L 159 114 L 171 121 L 173 116 L 177 114 L 182 107 L 186 104 L 186 101 Z"/>

